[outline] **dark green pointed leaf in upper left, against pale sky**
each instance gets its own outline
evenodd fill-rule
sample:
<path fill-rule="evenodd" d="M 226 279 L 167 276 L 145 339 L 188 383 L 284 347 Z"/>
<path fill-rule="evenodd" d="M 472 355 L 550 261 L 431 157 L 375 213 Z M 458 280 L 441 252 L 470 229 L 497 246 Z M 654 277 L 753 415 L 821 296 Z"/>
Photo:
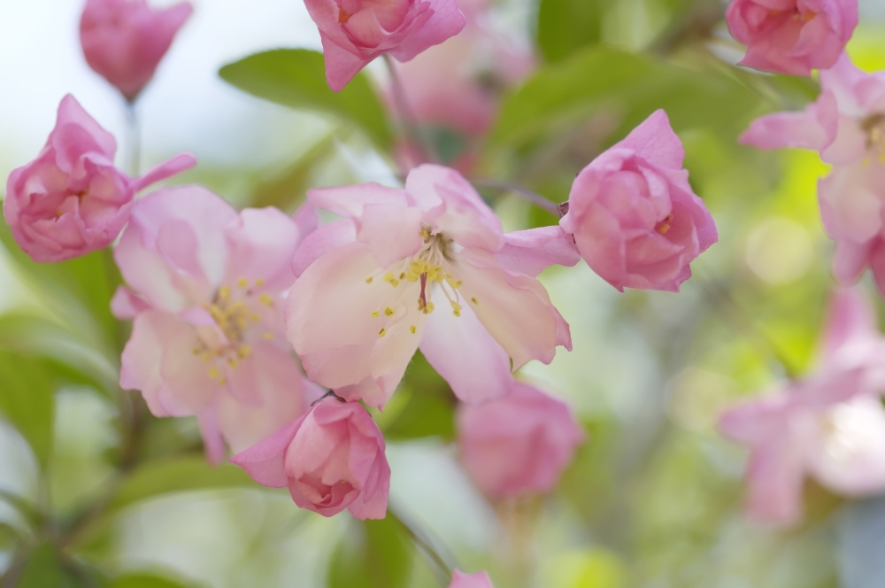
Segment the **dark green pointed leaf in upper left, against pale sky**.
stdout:
<path fill-rule="evenodd" d="M 306 49 L 256 53 L 219 71 L 224 81 L 277 104 L 334 114 L 357 125 L 379 147 L 389 150 L 393 135 L 387 114 L 365 74 L 340 92 L 329 89 L 323 54 Z"/>

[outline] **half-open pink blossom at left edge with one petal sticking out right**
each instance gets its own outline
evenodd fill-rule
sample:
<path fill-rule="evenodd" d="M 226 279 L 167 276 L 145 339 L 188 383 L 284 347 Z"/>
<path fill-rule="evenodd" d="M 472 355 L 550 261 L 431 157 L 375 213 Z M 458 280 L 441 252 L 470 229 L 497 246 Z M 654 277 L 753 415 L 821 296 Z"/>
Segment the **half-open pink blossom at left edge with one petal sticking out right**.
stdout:
<path fill-rule="evenodd" d="M 196 164 L 179 155 L 132 179 L 113 165 L 117 143 L 73 96 L 37 159 L 9 176 L 3 203 L 16 243 L 35 261 L 62 261 L 112 244 L 135 194 Z"/>

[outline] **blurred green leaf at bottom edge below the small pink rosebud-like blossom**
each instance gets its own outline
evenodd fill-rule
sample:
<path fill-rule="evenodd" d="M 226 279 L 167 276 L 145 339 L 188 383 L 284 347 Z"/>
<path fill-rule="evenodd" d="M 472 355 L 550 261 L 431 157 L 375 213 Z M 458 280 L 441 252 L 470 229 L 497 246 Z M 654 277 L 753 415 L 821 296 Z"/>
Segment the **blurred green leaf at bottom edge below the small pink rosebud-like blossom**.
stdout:
<path fill-rule="evenodd" d="M 356 521 L 335 547 L 327 588 L 404 588 L 412 575 L 412 544 L 393 514 Z"/>

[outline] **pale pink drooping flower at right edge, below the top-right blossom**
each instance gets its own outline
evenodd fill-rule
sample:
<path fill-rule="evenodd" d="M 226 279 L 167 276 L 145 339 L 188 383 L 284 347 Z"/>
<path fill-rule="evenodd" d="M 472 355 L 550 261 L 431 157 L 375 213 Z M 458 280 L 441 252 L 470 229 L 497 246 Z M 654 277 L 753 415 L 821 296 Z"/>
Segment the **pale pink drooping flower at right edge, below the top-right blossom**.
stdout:
<path fill-rule="evenodd" d="M 820 72 L 820 87 L 804 112 L 755 120 L 741 142 L 812 149 L 834 166 L 818 182 L 818 200 L 824 228 L 836 241 L 835 276 L 849 285 L 871 267 L 885 292 L 885 73 L 865 74 L 843 54 Z"/>

